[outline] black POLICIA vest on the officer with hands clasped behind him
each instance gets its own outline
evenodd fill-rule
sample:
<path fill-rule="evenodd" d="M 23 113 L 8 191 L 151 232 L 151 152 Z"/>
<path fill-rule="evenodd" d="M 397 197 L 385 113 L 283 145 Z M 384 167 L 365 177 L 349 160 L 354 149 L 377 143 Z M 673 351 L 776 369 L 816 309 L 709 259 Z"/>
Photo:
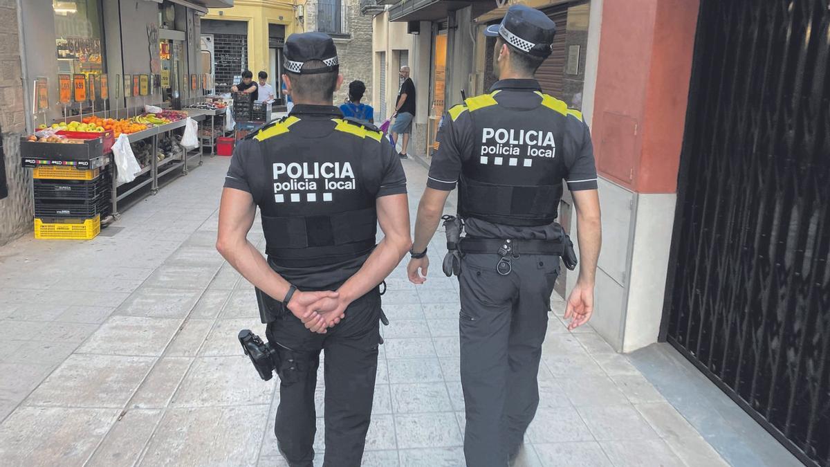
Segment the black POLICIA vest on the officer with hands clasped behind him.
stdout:
<path fill-rule="evenodd" d="M 320 139 L 291 136 L 295 116 L 253 137 L 263 148 L 270 184 L 260 201 L 266 253 L 286 267 L 320 266 L 372 251 L 377 233 L 374 194 L 364 185 L 364 138 L 381 134 L 334 119 Z M 376 134 L 377 133 L 377 134 Z M 267 140 L 267 141 L 266 141 Z"/>

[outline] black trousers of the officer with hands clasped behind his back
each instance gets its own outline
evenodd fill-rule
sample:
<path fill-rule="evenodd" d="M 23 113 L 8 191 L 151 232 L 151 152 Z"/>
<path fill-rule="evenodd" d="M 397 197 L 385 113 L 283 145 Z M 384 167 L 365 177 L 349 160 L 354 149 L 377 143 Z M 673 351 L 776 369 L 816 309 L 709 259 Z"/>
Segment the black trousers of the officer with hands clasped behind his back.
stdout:
<path fill-rule="evenodd" d="M 326 334 L 305 329 L 290 312 L 268 323 L 266 337 L 280 355 L 280 406 L 274 433 L 291 467 L 311 467 L 316 434 L 315 389 L 325 351 L 325 466 L 359 467 L 372 415 L 378 371 L 378 289 L 346 309 Z"/>

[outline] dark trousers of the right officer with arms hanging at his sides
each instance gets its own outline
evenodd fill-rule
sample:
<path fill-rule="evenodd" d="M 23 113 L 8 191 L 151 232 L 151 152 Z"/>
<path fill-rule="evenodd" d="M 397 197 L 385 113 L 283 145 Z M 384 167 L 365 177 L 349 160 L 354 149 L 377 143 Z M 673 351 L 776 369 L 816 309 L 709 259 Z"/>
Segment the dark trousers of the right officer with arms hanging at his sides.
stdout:
<path fill-rule="evenodd" d="M 539 407 L 539 364 L 559 257 L 523 254 L 496 272 L 496 254 L 467 254 L 461 291 L 461 386 L 469 467 L 505 467 Z"/>

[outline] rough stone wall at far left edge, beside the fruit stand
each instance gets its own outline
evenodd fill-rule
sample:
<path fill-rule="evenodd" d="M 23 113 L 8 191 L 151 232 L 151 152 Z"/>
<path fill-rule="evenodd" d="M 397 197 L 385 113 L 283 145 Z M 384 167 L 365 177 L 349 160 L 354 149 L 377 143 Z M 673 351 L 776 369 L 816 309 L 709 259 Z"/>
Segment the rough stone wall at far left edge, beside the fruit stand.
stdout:
<path fill-rule="evenodd" d="M 17 9 L 0 0 L 0 132 L 8 196 L 0 199 L 0 245 L 32 230 L 32 175 L 21 166 L 20 136 L 26 132 Z M 2 167 L 2 165 L 0 165 Z"/>

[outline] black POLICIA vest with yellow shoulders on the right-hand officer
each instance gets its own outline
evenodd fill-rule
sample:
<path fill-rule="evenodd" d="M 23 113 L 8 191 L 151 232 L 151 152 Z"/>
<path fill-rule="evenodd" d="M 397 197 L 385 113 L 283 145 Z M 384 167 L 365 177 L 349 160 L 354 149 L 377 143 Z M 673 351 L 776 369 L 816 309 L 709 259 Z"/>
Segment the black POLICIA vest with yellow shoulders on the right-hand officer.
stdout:
<path fill-rule="evenodd" d="M 499 92 L 471 97 L 449 111 L 453 120 L 469 112 L 474 128 L 473 153 L 461 166 L 459 214 L 494 224 L 551 224 L 567 173 L 561 154 L 565 119 L 576 111 L 538 91 L 535 108 L 500 106 Z"/>

